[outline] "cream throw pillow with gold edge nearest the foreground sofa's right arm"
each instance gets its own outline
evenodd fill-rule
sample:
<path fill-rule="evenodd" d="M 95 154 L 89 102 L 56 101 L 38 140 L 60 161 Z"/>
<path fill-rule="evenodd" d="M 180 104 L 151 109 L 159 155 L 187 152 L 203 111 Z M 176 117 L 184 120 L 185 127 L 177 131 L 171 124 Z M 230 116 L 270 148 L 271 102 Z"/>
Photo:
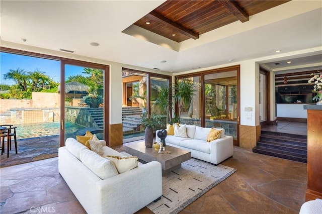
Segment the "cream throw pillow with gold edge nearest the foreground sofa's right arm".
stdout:
<path fill-rule="evenodd" d="M 138 158 L 136 156 L 120 157 L 107 155 L 105 157 L 114 163 L 117 171 L 120 174 L 137 167 Z"/>

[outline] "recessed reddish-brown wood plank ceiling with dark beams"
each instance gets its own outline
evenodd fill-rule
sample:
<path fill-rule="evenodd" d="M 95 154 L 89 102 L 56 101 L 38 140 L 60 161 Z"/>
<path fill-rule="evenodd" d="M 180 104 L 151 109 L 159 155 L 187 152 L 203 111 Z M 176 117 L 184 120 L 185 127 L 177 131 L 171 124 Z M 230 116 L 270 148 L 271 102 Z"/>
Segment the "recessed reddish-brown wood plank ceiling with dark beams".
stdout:
<path fill-rule="evenodd" d="M 289 1 L 171 1 L 168 0 L 134 23 L 176 42 L 198 39 L 201 34 Z"/>

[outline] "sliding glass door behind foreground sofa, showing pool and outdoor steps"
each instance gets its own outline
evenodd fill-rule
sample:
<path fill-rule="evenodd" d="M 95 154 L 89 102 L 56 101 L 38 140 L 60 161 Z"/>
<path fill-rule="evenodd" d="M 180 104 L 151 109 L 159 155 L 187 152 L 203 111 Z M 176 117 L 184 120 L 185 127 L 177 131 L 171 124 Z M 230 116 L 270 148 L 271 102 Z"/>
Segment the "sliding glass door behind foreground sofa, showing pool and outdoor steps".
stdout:
<path fill-rule="evenodd" d="M 62 62 L 64 79 L 61 91 L 64 139 L 85 135 L 86 131 L 107 140 L 107 68 L 91 63 Z"/>

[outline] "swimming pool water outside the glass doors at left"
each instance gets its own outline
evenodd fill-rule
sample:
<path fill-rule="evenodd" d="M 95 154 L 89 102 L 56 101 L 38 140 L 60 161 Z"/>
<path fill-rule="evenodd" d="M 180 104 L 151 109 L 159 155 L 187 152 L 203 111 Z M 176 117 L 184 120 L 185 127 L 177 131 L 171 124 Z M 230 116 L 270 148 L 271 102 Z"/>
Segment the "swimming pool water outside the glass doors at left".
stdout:
<path fill-rule="evenodd" d="M 17 139 L 37 138 L 45 136 L 59 135 L 60 123 L 39 123 L 39 124 L 17 124 L 16 134 Z M 74 123 L 65 123 L 65 133 L 74 133 L 78 129 L 84 128 L 81 125 Z"/>

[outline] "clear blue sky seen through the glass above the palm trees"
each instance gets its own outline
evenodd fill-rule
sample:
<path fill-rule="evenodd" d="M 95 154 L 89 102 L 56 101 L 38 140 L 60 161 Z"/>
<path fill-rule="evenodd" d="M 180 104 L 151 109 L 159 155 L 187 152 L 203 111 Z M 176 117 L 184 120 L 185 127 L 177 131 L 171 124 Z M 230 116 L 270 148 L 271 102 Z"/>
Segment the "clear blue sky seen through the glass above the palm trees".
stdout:
<path fill-rule="evenodd" d="M 16 70 L 18 68 L 27 72 L 35 71 L 38 68 L 39 71 L 45 72 L 54 81 L 60 82 L 60 61 L 1 52 L 0 64 L 0 84 L 15 84 L 12 80 L 5 80 L 4 74 L 8 73 L 10 69 Z M 65 76 L 82 74 L 83 71 L 83 67 L 66 65 Z"/>

